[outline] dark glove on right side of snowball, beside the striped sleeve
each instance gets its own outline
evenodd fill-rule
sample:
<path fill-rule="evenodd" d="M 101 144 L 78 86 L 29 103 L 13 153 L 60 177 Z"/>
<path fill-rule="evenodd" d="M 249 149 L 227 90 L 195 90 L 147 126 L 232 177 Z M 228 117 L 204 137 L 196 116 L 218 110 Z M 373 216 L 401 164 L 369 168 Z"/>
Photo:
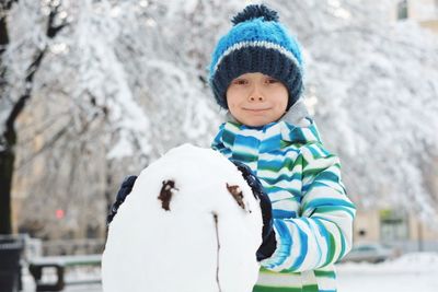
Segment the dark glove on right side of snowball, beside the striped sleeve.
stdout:
<path fill-rule="evenodd" d="M 262 183 L 254 175 L 251 168 L 243 164 L 242 162 L 231 160 L 232 163 L 238 167 L 238 170 L 242 173 L 243 178 L 250 185 L 253 190 L 254 197 L 258 199 L 261 209 L 262 209 L 262 218 L 263 218 L 263 230 L 262 230 L 262 245 L 258 247 L 256 256 L 257 260 L 261 261 L 265 258 L 270 257 L 276 247 L 277 241 L 275 238 L 275 231 L 273 227 L 273 207 L 270 205 L 269 197 L 266 195 Z"/>

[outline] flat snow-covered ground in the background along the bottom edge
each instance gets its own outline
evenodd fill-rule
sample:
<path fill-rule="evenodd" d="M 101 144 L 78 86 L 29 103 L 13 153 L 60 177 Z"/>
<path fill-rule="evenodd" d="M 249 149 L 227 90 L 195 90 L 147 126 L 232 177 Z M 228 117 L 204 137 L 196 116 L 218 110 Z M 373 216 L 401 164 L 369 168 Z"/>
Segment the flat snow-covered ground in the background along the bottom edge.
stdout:
<path fill-rule="evenodd" d="M 438 253 L 407 254 L 382 264 L 341 264 L 338 292 L 436 292 Z M 35 291 L 32 278 L 24 277 L 25 292 Z M 71 285 L 66 292 L 102 292 L 99 284 Z"/>

